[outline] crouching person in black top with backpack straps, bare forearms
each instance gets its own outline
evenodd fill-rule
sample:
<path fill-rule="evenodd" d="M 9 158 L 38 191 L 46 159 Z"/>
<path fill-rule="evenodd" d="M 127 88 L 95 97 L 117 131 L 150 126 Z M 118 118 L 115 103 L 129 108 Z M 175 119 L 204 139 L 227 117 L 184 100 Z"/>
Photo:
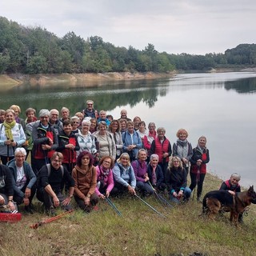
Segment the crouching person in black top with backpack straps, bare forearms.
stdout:
<path fill-rule="evenodd" d="M 50 164 L 42 166 L 38 175 L 37 198 L 44 203 L 46 213 L 56 215 L 55 208 L 62 206 L 64 210 L 72 210 L 70 205 L 74 194 L 74 179 L 70 176 L 65 166 L 62 166 L 63 155 L 54 152 Z M 62 194 L 62 184 L 69 186 L 68 197 Z"/>

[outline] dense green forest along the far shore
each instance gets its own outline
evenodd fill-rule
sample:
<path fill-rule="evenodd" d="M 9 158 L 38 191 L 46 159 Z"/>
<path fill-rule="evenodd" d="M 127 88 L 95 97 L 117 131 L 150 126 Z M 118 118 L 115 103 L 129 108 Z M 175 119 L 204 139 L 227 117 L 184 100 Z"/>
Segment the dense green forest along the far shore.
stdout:
<path fill-rule="evenodd" d="M 224 54 L 159 53 L 118 47 L 101 37 L 68 32 L 63 38 L 41 26 L 26 27 L 0 16 L 0 74 L 170 72 L 256 66 L 256 44 L 240 44 Z"/>

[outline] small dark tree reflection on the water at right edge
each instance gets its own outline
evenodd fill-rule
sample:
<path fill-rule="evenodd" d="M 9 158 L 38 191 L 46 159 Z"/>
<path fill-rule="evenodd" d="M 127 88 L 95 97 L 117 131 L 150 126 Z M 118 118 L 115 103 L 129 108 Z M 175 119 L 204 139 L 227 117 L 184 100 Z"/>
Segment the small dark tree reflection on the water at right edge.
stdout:
<path fill-rule="evenodd" d="M 250 94 L 256 92 L 256 78 L 244 78 L 236 81 L 226 81 L 226 90 L 235 90 L 238 94 Z"/>

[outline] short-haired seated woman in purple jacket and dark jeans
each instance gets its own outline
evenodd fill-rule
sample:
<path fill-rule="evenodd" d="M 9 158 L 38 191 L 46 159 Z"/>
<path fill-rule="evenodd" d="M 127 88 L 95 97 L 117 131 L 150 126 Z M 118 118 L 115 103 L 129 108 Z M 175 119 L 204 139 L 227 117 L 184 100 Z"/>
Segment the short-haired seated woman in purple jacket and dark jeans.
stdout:
<path fill-rule="evenodd" d="M 134 175 L 136 178 L 136 186 L 143 196 L 151 195 L 154 189 L 150 186 L 149 176 L 147 174 L 146 164 L 146 150 L 138 150 L 138 160 L 134 160 L 131 164 L 134 168 Z"/>

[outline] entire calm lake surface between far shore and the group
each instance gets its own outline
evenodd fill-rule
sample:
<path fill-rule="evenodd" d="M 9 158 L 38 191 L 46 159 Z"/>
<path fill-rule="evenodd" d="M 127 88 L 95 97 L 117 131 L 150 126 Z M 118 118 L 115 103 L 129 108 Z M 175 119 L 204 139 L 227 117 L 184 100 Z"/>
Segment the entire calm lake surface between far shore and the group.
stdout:
<path fill-rule="evenodd" d="M 256 185 L 255 73 L 178 74 L 170 79 L 94 86 L 16 86 L 1 91 L 0 108 L 16 104 L 22 111 L 30 106 L 39 111 L 66 106 L 74 114 L 89 98 L 114 118 L 125 108 L 130 118 L 138 115 L 146 124 L 164 126 L 171 143 L 179 128 L 188 130 L 193 147 L 205 135 L 208 171 L 223 179 L 238 172 L 243 186 Z"/>

